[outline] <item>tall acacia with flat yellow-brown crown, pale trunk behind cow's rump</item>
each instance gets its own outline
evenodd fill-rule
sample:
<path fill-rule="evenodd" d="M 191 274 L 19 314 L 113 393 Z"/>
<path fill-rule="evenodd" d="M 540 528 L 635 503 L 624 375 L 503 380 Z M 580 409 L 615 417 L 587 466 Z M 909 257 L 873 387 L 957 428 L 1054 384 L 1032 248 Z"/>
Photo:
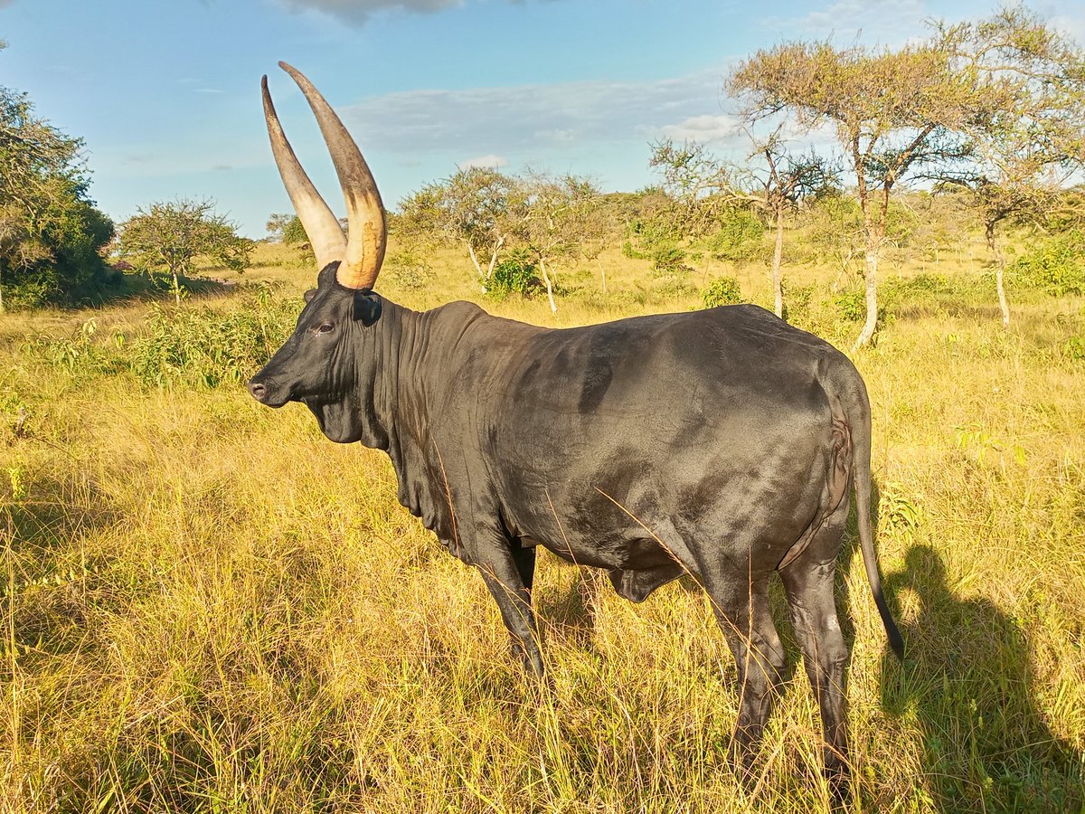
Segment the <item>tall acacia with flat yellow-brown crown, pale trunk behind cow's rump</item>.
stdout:
<path fill-rule="evenodd" d="M 921 168 L 967 155 L 959 136 L 967 89 L 946 53 L 930 43 L 899 51 L 784 43 L 742 62 L 727 85 L 746 99 L 752 122 L 790 113 L 806 128 L 835 128 L 863 212 L 867 318 L 855 346 L 867 344 L 877 327 L 891 195 Z"/>

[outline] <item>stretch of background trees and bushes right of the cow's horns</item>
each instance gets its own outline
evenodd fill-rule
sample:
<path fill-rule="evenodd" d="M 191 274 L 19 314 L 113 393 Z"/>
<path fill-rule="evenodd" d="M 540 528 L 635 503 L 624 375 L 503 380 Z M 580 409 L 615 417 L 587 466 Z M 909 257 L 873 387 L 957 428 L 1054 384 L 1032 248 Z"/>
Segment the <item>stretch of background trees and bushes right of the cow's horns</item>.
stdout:
<path fill-rule="evenodd" d="M 660 141 L 650 158 L 659 187 L 633 194 L 603 194 L 575 176 L 462 168 L 401 201 L 394 228 L 461 246 L 486 290 L 538 287 L 554 309 L 554 269 L 598 262 L 610 245 L 680 274 L 691 252 L 752 259 L 770 230 L 781 314 L 786 225 L 799 224 L 822 262 L 861 264 L 866 318 L 856 345 L 877 327 L 879 259 L 921 232 L 935 254 L 954 234 L 982 232 L 1007 326 L 1006 228 L 1051 236 L 1033 247 L 1031 270 L 1042 277 L 1062 264 L 1052 274 L 1074 289 L 1085 56 L 1023 7 L 978 23 L 933 23 L 928 38 L 896 50 L 786 42 L 740 63 L 726 90 L 749 137 L 745 161 Z M 815 133 L 831 145 L 812 149 Z M 916 182 L 927 192 L 909 192 Z M 923 221 L 917 201 L 937 217 Z"/>

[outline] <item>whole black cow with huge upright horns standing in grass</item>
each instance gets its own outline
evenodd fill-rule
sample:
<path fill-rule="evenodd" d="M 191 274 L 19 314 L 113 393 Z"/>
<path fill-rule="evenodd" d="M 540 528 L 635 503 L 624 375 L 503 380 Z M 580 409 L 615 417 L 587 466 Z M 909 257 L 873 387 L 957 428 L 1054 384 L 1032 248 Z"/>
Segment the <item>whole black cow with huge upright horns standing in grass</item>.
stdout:
<path fill-rule="evenodd" d="M 339 443 L 385 450 L 399 500 L 476 565 L 528 670 L 536 547 L 605 569 L 635 602 L 692 574 L 735 654 L 736 756 L 749 767 L 784 667 L 767 585 L 779 572 L 821 709 L 826 768 L 846 774 L 848 658 L 833 573 L 855 487 L 859 540 L 893 649 L 870 527 L 870 406 L 852 363 L 741 305 L 550 330 L 451 303 L 417 313 L 372 290 L 380 195 L 298 72 L 347 200 L 349 240 L 264 103 L 283 180 L 320 267 L 297 329 L 248 383 L 305 404 Z"/>

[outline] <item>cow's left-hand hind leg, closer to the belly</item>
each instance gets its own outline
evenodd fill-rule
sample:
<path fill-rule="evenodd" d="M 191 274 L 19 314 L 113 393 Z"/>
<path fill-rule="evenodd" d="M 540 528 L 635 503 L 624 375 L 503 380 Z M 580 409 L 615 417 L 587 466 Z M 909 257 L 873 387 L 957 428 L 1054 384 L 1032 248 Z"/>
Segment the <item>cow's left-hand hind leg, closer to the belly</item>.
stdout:
<path fill-rule="evenodd" d="M 705 577 L 705 589 L 738 665 L 739 717 L 731 740 L 735 765 L 749 778 L 786 666 L 764 580 Z"/>

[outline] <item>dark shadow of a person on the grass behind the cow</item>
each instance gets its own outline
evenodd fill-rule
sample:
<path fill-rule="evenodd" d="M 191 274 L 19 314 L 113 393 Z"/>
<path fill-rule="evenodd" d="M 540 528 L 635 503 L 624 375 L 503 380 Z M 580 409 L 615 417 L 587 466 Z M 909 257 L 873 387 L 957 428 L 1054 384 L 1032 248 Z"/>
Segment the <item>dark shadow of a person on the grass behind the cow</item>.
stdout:
<path fill-rule="evenodd" d="M 960 598 L 930 546 L 912 546 L 885 581 L 919 611 L 896 619 L 906 643 L 901 664 L 886 650 L 882 707 L 914 715 L 922 734 L 929 791 L 945 811 L 1080 811 L 1081 755 L 1057 738 L 1034 698 L 1029 641 L 985 597 Z"/>

